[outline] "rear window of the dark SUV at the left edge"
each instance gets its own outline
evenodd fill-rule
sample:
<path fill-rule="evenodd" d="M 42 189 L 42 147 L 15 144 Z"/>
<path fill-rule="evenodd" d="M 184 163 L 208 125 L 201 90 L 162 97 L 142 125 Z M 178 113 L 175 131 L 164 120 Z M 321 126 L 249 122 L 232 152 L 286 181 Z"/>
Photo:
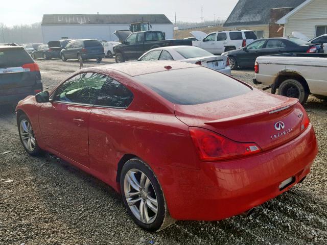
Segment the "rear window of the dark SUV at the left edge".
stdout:
<path fill-rule="evenodd" d="M 23 49 L 0 48 L 0 68 L 20 67 L 24 64 L 34 63 L 31 56 Z"/>

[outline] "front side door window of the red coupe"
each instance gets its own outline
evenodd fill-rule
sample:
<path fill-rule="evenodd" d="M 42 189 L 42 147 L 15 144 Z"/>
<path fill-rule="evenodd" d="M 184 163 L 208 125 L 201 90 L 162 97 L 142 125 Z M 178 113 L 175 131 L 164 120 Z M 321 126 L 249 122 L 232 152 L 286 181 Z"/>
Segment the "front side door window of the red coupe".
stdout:
<path fill-rule="evenodd" d="M 59 86 L 54 101 L 93 105 L 107 79 L 93 72 L 79 74 Z"/>

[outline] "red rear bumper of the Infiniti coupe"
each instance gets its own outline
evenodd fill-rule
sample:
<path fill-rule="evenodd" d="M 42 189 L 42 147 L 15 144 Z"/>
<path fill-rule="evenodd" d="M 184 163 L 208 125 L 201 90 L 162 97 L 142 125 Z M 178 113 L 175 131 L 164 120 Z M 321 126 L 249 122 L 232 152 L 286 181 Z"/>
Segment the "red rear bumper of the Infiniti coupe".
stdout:
<path fill-rule="evenodd" d="M 220 220 L 289 190 L 308 175 L 317 153 L 310 125 L 296 139 L 258 155 L 228 162 L 200 162 L 200 170 L 165 167 L 159 181 L 175 219 Z M 280 190 L 279 184 L 290 177 L 294 182 Z"/>

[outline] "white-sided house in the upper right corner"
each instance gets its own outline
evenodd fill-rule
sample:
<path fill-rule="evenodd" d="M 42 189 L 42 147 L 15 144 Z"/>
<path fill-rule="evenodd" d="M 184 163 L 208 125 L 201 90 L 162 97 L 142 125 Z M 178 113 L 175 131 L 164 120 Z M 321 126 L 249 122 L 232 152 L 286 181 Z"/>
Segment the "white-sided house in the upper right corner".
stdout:
<path fill-rule="evenodd" d="M 327 34 L 327 0 L 307 0 L 279 19 L 277 24 L 284 24 L 284 36 L 300 32 L 311 39 Z"/>

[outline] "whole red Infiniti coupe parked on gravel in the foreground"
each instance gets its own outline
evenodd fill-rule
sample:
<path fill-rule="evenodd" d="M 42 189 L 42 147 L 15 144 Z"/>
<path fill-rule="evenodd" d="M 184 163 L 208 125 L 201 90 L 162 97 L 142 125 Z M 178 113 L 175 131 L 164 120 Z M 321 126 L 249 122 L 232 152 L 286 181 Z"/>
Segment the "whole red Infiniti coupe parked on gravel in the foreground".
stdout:
<path fill-rule="evenodd" d="M 305 179 L 318 152 L 297 99 L 176 61 L 82 69 L 16 114 L 30 155 L 103 180 L 148 231 L 246 212 Z"/>

